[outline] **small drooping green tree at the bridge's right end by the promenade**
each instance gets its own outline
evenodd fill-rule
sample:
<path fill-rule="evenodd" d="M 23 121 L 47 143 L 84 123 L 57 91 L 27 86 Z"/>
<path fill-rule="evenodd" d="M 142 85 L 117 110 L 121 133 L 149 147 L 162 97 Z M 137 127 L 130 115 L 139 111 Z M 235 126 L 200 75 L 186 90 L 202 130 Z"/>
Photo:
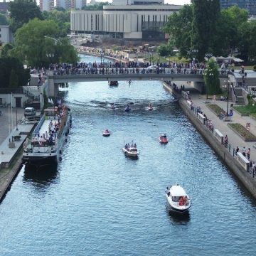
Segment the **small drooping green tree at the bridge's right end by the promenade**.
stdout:
<path fill-rule="evenodd" d="M 210 58 L 203 73 L 203 80 L 206 84 L 206 94 L 215 95 L 221 92 L 218 65 L 213 58 Z"/>

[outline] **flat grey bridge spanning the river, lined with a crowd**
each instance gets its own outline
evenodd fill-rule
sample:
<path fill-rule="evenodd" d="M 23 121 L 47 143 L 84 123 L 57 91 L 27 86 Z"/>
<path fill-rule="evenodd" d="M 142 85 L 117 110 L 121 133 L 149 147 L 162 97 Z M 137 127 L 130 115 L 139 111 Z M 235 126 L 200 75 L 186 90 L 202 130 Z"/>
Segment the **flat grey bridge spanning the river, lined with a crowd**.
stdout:
<path fill-rule="evenodd" d="M 228 73 L 219 75 L 220 80 L 228 79 Z M 204 92 L 203 70 L 147 70 L 145 68 L 98 69 L 98 70 L 55 70 L 48 73 L 48 95 L 58 94 L 58 84 L 63 82 L 86 81 L 127 81 L 127 80 L 160 80 L 160 81 L 191 81 L 199 92 Z"/>

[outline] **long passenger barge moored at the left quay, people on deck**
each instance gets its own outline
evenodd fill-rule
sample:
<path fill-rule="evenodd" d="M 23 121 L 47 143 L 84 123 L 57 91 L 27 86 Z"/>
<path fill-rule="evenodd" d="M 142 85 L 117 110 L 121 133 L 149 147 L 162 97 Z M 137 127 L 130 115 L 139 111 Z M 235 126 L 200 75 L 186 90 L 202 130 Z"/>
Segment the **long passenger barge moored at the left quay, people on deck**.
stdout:
<path fill-rule="evenodd" d="M 72 125 L 70 109 L 66 106 L 44 110 L 32 139 L 23 144 L 22 160 L 26 164 L 54 164 L 62 160 L 63 145 Z"/>

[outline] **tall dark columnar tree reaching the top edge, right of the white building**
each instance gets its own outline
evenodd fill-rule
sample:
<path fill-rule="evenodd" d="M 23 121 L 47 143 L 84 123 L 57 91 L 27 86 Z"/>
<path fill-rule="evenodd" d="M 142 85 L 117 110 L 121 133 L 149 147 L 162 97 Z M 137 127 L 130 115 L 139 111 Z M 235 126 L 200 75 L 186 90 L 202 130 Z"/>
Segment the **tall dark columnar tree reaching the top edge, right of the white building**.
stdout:
<path fill-rule="evenodd" d="M 220 15 L 220 0 L 192 0 L 192 6 L 191 50 L 197 49 L 198 60 L 203 60 L 206 53 L 213 51 L 216 21 Z"/>

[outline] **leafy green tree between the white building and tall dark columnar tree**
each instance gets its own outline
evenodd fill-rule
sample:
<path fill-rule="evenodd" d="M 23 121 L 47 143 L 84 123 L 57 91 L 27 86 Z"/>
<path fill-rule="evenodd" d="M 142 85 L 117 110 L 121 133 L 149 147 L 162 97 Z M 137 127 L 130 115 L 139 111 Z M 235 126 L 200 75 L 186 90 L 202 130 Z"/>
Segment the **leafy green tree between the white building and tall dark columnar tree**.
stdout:
<path fill-rule="evenodd" d="M 193 8 L 191 5 L 183 6 L 178 13 L 169 16 L 163 28 L 164 33 L 170 35 L 170 41 L 178 48 L 181 56 L 187 56 L 191 48 Z"/>

